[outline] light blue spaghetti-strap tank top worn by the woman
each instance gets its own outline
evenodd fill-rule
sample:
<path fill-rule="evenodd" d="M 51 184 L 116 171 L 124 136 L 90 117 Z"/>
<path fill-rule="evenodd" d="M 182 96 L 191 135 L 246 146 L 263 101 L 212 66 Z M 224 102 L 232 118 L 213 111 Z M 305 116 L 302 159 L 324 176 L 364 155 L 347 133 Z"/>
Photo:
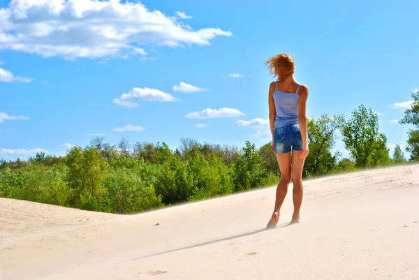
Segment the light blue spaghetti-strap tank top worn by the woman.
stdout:
<path fill-rule="evenodd" d="M 298 124 L 298 102 L 300 101 L 301 84 L 298 86 L 295 94 L 278 89 L 275 82 L 275 91 L 273 94 L 275 104 L 275 122 L 274 128 L 287 126 L 288 124 Z"/>

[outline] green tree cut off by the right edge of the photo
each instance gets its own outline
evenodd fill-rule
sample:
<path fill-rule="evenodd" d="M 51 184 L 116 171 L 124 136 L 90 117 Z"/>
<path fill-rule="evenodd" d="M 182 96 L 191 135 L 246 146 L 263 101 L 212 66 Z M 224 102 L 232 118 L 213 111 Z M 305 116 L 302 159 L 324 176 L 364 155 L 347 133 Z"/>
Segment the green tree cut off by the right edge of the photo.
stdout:
<path fill-rule="evenodd" d="M 410 124 L 413 129 L 409 129 L 406 151 L 411 154 L 411 161 L 419 160 L 419 91 L 412 93 L 413 103 L 411 108 L 404 111 L 404 118 L 400 124 Z"/>

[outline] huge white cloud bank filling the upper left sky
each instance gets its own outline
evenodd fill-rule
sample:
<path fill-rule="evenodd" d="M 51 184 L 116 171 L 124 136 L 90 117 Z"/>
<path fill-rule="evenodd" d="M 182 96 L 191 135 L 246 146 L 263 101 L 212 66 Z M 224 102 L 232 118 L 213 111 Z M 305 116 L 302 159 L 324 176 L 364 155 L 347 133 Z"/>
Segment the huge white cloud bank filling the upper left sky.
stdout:
<path fill-rule="evenodd" d="M 13 0 L 0 9 L 0 50 L 43 57 L 145 55 L 139 45 L 210 45 L 216 36 L 231 35 L 193 30 L 139 1 Z"/>

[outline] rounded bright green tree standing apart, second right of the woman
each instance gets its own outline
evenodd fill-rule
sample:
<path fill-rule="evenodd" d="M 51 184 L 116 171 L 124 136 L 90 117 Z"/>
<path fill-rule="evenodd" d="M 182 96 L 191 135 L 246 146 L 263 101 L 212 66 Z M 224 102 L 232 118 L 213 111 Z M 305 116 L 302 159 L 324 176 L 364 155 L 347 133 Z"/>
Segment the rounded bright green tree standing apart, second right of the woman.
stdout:
<path fill-rule="evenodd" d="M 357 167 L 387 163 L 389 149 L 387 138 L 378 132 L 378 116 L 372 109 L 360 105 L 344 122 L 341 133 L 346 149 L 351 152 Z"/>

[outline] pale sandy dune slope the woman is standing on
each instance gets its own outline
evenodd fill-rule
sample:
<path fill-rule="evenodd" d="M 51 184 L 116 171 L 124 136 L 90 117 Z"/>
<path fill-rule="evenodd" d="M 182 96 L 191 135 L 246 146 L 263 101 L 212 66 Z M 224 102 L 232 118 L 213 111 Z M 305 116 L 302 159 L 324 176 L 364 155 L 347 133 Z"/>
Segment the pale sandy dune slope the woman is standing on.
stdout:
<path fill-rule="evenodd" d="M 292 187 L 292 186 L 290 186 Z M 0 199 L 0 279 L 419 279 L 419 165 L 117 216 Z"/>

